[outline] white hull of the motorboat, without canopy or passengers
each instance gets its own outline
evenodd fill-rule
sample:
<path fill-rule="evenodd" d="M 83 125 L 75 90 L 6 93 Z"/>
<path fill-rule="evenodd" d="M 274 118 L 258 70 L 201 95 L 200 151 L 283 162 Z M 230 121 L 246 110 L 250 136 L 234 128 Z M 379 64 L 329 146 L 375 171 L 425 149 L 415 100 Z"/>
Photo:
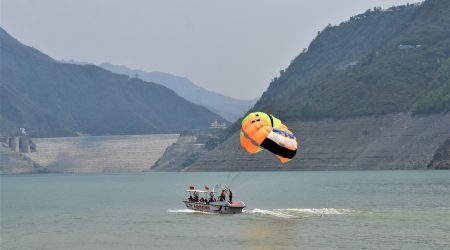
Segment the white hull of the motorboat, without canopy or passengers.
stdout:
<path fill-rule="evenodd" d="M 184 200 L 183 202 L 188 209 L 202 212 L 222 213 L 222 214 L 242 213 L 242 209 L 245 208 L 245 204 L 241 201 L 233 203 L 229 203 L 226 201 L 206 203 L 206 202 Z"/>

